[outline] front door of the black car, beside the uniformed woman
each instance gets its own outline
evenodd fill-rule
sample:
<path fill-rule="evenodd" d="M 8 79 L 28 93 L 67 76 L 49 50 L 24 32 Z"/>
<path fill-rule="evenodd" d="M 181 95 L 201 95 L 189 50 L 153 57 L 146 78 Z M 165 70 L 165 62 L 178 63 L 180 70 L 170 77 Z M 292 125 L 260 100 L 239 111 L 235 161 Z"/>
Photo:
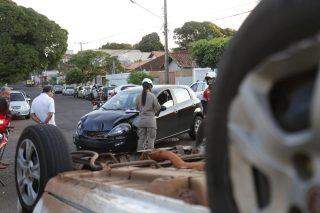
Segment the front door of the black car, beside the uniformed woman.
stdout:
<path fill-rule="evenodd" d="M 160 112 L 160 115 L 157 117 L 157 140 L 160 140 L 178 133 L 177 113 L 174 99 L 169 89 L 160 92 L 157 98 L 160 105 L 167 108 L 165 111 Z"/>

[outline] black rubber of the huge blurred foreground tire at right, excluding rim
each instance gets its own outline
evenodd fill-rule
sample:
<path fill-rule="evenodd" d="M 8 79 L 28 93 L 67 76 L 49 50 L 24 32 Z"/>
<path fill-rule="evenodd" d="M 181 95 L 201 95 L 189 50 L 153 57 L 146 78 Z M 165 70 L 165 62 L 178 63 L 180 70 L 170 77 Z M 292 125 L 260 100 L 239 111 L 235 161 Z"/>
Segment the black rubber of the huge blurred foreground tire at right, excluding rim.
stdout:
<path fill-rule="evenodd" d="M 263 0 L 229 43 L 208 110 L 207 181 L 213 212 L 238 212 L 229 171 L 227 121 L 241 81 L 266 57 L 314 36 L 320 29 L 319 10 L 318 0 Z"/>

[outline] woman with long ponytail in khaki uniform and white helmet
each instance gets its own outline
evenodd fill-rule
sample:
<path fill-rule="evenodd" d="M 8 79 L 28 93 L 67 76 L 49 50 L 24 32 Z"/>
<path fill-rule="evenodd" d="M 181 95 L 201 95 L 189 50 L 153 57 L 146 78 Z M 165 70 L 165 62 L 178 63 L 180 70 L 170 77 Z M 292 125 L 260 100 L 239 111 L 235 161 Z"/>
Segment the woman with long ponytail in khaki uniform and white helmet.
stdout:
<path fill-rule="evenodd" d="M 154 149 L 157 135 L 156 115 L 160 113 L 161 106 L 156 96 L 151 93 L 153 83 L 145 78 L 142 81 L 142 93 L 136 99 L 136 109 L 139 111 L 138 127 L 138 152 Z"/>

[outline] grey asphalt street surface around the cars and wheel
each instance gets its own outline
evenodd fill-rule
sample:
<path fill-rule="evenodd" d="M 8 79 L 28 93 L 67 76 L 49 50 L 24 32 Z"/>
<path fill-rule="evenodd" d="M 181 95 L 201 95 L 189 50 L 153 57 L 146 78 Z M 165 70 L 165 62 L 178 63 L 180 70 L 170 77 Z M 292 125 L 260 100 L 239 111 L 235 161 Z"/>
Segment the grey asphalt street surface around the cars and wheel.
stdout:
<path fill-rule="evenodd" d="M 24 90 L 33 99 L 40 94 L 40 89 L 36 87 L 27 87 L 23 85 L 15 85 L 15 89 Z M 72 135 L 77 126 L 79 119 L 92 110 L 91 103 L 86 100 L 75 99 L 71 96 L 55 95 L 56 106 L 56 124 L 66 137 L 70 151 L 75 150 L 72 142 Z M 17 212 L 19 209 L 18 197 L 14 182 L 14 156 L 15 149 L 23 129 L 29 125 L 34 124 L 32 120 L 14 120 L 15 126 L 12 134 L 9 137 L 4 161 L 10 163 L 10 166 L 0 171 L 0 179 L 6 184 L 5 187 L 0 185 L 0 212 Z M 161 143 L 160 146 L 173 146 L 183 143 L 184 145 L 191 145 L 194 143 L 188 136 L 181 136 L 179 139 L 168 140 Z"/>

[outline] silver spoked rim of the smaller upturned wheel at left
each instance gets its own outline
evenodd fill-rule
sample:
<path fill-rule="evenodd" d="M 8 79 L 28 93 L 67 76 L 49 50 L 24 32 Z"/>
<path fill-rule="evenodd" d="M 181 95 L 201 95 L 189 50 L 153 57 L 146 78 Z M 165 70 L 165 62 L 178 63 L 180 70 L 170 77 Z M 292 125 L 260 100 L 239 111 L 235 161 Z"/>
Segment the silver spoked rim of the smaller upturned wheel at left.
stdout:
<path fill-rule="evenodd" d="M 17 160 L 17 186 L 23 202 L 33 205 L 39 194 L 40 164 L 38 152 L 30 139 L 19 146 Z"/>

